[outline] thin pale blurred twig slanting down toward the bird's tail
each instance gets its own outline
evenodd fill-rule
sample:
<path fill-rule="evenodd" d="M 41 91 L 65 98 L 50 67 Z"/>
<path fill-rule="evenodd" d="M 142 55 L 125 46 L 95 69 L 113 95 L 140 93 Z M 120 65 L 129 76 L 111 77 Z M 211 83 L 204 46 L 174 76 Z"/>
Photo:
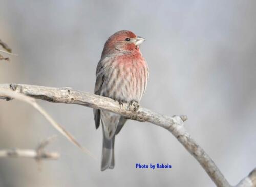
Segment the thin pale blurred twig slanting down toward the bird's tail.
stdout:
<path fill-rule="evenodd" d="M 59 125 L 40 105 L 35 102 L 35 99 L 29 96 L 25 96 L 22 93 L 14 92 L 12 90 L 6 89 L 4 87 L 0 87 L 0 99 L 11 100 L 12 98 L 18 99 L 20 101 L 26 102 L 32 105 L 36 110 L 38 110 L 49 122 L 50 124 L 57 129 L 63 136 L 65 136 L 70 142 L 79 147 L 82 151 L 86 152 L 92 158 L 96 159 L 96 157 L 86 148 L 82 147 L 76 139 L 70 134 L 65 128 Z"/>

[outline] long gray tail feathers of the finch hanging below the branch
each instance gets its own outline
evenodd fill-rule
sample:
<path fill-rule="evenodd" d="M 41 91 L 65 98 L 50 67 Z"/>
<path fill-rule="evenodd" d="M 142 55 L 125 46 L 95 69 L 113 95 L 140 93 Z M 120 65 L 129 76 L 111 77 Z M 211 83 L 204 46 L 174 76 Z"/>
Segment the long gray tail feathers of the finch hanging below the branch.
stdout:
<path fill-rule="evenodd" d="M 101 171 L 104 171 L 108 168 L 110 169 L 114 168 L 114 165 L 115 165 L 114 143 L 115 143 L 115 135 L 111 139 L 107 139 L 103 132 Z"/>

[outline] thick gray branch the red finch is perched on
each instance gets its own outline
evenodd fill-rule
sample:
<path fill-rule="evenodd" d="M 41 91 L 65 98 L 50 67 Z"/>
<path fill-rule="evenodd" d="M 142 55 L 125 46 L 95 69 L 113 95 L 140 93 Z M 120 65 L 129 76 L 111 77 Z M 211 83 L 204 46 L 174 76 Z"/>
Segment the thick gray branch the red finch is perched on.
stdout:
<path fill-rule="evenodd" d="M 214 161 L 211 160 L 184 128 L 184 121 L 187 120 L 186 116 L 164 116 L 143 107 L 139 107 L 139 109 L 135 111 L 135 107 L 133 106 L 128 107 L 127 104 L 123 104 L 122 107 L 118 102 L 110 98 L 74 90 L 68 87 L 52 88 L 24 84 L 0 84 L 0 87 L 50 102 L 79 104 L 90 108 L 108 110 L 129 119 L 142 122 L 146 121 L 163 127 L 170 131 L 188 152 L 196 158 L 217 186 L 230 186 Z M 10 100 L 10 98 L 6 96 L 0 95 L 0 98 Z"/>

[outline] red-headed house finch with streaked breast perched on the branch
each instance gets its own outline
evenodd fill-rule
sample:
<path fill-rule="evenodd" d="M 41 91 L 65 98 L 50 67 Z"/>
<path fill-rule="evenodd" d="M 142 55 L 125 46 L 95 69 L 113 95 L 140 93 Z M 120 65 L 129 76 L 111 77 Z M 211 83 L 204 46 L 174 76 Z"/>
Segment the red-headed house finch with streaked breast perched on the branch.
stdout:
<path fill-rule="evenodd" d="M 148 78 L 148 67 L 139 49 L 144 38 L 131 31 L 118 31 L 106 41 L 96 69 L 94 93 L 129 105 L 139 106 Z M 103 131 L 101 171 L 114 168 L 115 135 L 126 119 L 118 114 L 94 109 L 96 129 Z"/>

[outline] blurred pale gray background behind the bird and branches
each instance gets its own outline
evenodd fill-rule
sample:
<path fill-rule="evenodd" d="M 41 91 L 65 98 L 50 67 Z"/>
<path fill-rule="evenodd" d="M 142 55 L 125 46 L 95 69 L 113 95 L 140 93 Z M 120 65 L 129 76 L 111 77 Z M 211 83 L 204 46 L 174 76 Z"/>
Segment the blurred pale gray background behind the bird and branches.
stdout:
<path fill-rule="evenodd" d="M 106 39 L 131 30 L 150 79 L 141 105 L 188 115 L 187 130 L 231 184 L 256 166 L 256 1 L 0 2 L 0 38 L 13 53 L 0 61 L 0 83 L 70 86 L 93 92 Z M 6 55 L 5 55 L 6 56 Z M 32 159 L 1 159 L 0 186 L 215 186 L 165 129 L 129 121 L 116 138 L 114 170 L 100 171 L 102 132 L 90 108 L 38 103 L 94 153 L 59 135 L 61 154 L 38 170 Z M 0 149 L 34 148 L 59 134 L 31 106 L 0 101 Z M 136 169 L 169 163 L 172 169 Z"/>

